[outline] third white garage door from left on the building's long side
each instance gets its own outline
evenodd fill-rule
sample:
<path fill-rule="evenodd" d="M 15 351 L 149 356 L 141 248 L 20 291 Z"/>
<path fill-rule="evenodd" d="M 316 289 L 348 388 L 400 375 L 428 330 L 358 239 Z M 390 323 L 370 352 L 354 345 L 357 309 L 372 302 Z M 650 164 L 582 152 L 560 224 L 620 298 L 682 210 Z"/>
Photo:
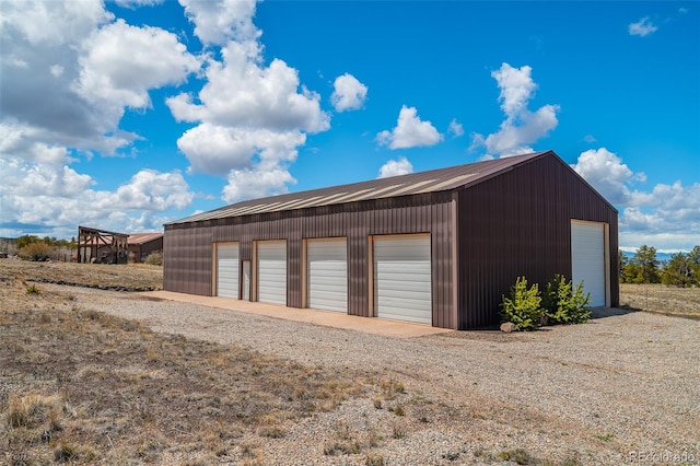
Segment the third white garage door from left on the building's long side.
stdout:
<path fill-rule="evenodd" d="M 348 246 L 345 238 L 306 243 L 308 307 L 348 312 Z"/>

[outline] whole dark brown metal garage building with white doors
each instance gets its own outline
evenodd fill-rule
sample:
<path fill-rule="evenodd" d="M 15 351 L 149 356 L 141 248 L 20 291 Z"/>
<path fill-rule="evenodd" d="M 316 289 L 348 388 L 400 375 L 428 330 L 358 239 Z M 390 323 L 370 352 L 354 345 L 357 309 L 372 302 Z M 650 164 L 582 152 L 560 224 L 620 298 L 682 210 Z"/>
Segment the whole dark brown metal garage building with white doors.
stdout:
<path fill-rule="evenodd" d="M 619 304 L 617 210 L 551 151 L 247 200 L 165 225 L 168 291 L 445 328 L 518 276 Z"/>

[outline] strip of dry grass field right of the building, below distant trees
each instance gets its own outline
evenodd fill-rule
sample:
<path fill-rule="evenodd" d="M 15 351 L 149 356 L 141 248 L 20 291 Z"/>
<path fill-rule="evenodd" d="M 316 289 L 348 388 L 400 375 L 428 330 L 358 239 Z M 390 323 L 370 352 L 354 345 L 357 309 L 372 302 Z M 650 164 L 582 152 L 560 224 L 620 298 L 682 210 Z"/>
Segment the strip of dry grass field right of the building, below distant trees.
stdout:
<path fill-rule="evenodd" d="M 700 288 L 620 283 L 620 305 L 648 312 L 700 318 Z"/>

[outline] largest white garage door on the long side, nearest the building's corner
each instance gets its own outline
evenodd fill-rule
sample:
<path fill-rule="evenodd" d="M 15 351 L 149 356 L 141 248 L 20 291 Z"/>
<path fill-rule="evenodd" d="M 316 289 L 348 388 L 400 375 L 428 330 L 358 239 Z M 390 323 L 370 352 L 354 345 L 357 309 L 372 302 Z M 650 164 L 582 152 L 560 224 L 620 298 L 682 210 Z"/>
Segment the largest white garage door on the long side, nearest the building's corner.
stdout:
<path fill-rule="evenodd" d="M 430 236 L 374 237 L 377 317 L 432 324 Z"/>

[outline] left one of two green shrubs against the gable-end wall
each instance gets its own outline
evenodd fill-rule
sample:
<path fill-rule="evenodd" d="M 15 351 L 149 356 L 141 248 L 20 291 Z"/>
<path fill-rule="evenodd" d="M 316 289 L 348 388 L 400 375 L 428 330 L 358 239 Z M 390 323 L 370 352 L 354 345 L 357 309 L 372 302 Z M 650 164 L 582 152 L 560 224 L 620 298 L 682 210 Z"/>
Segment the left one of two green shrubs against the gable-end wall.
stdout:
<path fill-rule="evenodd" d="M 534 330 L 542 325 L 541 301 L 537 283 L 528 289 L 525 277 L 518 277 L 510 298 L 503 296 L 501 316 L 504 322 L 512 322 L 516 330 Z"/>

